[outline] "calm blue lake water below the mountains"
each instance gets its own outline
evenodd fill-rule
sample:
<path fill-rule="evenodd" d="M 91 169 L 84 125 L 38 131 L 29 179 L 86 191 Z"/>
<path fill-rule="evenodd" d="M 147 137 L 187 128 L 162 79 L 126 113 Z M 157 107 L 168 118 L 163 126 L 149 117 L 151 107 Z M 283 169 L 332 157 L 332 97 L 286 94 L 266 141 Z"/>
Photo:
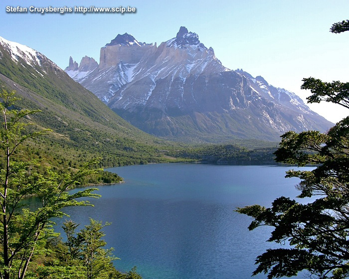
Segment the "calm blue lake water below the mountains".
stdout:
<path fill-rule="evenodd" d="M 105 240 L 121 258 L 118 270 L 137 266 L 144 279 L 247 279 L 256 256 L 276 245 L 266 242 L 271 228 L 250 232 L 251 219 L 234 210 L 295 198 L 299 180 L 284 178 L 288 169 L 191 163 L 110 168 L 126 182 L 99 187 L 95 207 L 66 212 L 82 225 L 89 217 L 112 223 Z"/>

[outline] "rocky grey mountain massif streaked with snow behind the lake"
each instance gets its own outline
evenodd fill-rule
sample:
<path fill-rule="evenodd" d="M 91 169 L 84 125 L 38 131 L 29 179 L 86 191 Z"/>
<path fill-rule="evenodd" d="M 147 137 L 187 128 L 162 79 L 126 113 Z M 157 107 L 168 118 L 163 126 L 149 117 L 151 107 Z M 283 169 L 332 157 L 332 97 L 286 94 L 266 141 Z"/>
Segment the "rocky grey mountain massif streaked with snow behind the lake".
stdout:
<path fill-rule="evenodd" d="M 70 57 L 65 71 L 122 118 L 167 139 L 279 140 L 286 131 L 333 126 L 296 94 L 224 67 L 183 26 L 159 46 L 118 34 L 101 48 L 99 64 Z"/>

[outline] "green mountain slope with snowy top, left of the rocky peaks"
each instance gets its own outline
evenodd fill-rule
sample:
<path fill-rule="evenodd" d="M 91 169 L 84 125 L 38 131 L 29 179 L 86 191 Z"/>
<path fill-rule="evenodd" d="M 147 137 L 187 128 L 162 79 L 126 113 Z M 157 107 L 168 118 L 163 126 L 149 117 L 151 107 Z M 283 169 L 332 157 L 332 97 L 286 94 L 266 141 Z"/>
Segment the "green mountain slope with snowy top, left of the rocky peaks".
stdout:
<path fill-rule="evenodd" d="M 71 62 L 70 67 L 77 66 Z M 93 60 L 83 59 L 78 69 L 88 71 L 93 65 Z M 1 37 L 0 88 L 15 90 L 20 108 L 42 111 L 28 117 L 34 127 L 53 130 L 24 148 L 27 157 L 48 158 L 63 168 L 97 156 L 103 157 L 105 167 L 174 161 L 161 151 L 168 142 L 120 118 L 43 54 Z"/>

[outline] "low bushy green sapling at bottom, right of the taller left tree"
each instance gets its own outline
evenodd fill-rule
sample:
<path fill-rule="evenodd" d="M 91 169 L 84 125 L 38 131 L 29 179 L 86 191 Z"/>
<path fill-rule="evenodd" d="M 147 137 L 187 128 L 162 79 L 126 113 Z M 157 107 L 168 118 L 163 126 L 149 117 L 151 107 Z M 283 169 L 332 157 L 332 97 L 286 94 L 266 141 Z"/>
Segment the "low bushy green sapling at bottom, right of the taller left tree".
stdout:
<path fill-rule="evenodd" d="M 124 274 L 117 271 L 113 261 L 113 249 L 105 249 L 102 229 L 109 223 L 90 219 L 80 232 L 78 224 L 68 220 L 63 223 L 67 241 L 51 237 L 46 250 L 29 266 L 28 277 L 32 279 L 142 279 L 136 267 Z"/>

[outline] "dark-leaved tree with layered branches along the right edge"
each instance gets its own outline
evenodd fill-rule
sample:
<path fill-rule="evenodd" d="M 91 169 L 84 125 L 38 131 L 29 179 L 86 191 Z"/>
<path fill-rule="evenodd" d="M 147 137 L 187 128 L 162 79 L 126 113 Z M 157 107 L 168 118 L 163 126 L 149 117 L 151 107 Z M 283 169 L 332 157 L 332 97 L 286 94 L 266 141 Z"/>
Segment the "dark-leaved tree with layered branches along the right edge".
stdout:
<path fill-rule="evenodd" d="M 331 31 L 349 30 L 349 21 L 333 24 Z M 349 109 L 349 83 L 304 79 L 303 89 L 311 90 L 309 103 L 333 102 Z M 290 170 L 286 177 L 301 182 L 298 197 L 315 197 L 314 202 L 298 203 L 290 198 L 274 200 L 272 207 L 252 205 L 238 208 L 253 217 L 249 226 L 272 226 L 268 239 L 291 248 L 268 249 L 256 259 L 253 275 L 268 274 L 268 279 L 291 277 L 308 271 L 312 278 L 349 277 L 349 117 L 326 134 L 307 131 L 288 132 L 275 152 L 276 160 L 287 164 L 316 164 L 312 171 Z"/>

